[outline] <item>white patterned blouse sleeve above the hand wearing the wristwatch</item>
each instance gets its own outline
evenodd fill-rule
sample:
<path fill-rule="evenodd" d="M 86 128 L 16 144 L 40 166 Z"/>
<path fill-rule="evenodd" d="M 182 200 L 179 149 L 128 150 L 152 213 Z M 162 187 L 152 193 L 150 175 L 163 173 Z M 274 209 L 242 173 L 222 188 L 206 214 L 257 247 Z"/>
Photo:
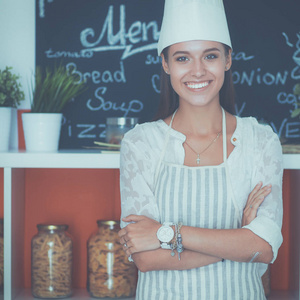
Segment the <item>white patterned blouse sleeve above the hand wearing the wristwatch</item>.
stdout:
<path fill-rule="evenodd" d="M 123 139 L 120 152 L 121 227 L 123 217 L 144 215 L 159 221 L 154 197 L 155 159 L 152 151 L 139 140 Z"/>

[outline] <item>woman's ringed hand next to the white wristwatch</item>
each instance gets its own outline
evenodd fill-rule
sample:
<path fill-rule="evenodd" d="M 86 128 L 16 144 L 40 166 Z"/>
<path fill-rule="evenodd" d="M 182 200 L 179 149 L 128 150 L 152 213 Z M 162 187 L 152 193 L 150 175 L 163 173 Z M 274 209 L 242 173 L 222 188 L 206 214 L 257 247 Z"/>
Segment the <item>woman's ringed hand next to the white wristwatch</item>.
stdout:
<path fill-rule="evenodd" d="M 128 224 L 119 231 L 120 243 L 127 256 L 136 252 L 155 250 L 160 248 L 156 232 L 161 224 L 145 216 L 129 215 L 122 219 Z"/>

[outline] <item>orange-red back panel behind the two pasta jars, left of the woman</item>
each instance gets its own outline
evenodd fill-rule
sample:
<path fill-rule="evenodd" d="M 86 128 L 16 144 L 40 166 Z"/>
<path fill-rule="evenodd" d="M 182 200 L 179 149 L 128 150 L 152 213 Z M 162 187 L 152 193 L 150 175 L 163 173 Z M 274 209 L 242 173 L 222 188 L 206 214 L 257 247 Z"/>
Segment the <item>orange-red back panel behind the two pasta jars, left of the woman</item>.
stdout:
<path fill-rule="evenodd" d="M 74 286 L 86 286 L 86 241 L 98 219 L 120 218 L 118 170 L 27 169 L 25 287 L 30 287 L 30 242 L 38 223 L 64 223 L 73 237 Z"/>

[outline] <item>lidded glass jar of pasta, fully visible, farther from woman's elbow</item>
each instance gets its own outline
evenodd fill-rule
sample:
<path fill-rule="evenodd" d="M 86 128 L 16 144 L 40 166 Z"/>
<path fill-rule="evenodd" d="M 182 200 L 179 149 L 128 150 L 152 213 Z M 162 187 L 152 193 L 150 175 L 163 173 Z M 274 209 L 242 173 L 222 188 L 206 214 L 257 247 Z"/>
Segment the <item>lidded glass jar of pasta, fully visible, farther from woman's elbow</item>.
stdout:
<path fill-rule="evenodd" d="M 68 225 L 38 224 L 31 241 L 31 291 L 37 298 L 72 294 L 72 247 Z"/>

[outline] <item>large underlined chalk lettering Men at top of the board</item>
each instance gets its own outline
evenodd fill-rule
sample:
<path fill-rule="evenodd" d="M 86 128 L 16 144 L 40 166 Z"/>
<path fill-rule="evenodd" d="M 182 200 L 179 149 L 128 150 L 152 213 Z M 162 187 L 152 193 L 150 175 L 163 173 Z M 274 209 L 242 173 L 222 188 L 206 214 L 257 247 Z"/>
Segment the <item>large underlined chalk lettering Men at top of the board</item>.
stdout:
<path fill-rule="evenodd" d="M 121 59 L 126 59 L 132 55 L 154 50 L 157 47 L 157 41 L 159 38 L 159 29 L 156 21 L 151 21 L 149 23 L 136 21 L 131 24 L 128 31 L 126 32 L 126 9 L 125 5 L 120 5 L 120 17 L 119 17 L 119 28 L 118 32 L 114 34 L 114 6 L 110 5 L 108 8 L 107 16 L 104 20 L 102 29 L 100 30 L 100 35 L 96 41 L 89 41 L 89 39 L 95 37 L 95 30 L 93 28 L 86 28 L 82 30 L 80 34 L 80 41 L 84 49 L 82 51 L 93 51 L 93 52 L 103 52 L 103 51 L 115 51 L 124 50 Z M 152 41 L 149 42 L 149 31 L 152 33 Z M 100 46 L 106 34 L 106 42 Z M 128 40 L 128 42 L 127 42 Z M 133 45 L 139 43 L 149 43 L 142 45 L 137 48 L 133 48 Z"/>

